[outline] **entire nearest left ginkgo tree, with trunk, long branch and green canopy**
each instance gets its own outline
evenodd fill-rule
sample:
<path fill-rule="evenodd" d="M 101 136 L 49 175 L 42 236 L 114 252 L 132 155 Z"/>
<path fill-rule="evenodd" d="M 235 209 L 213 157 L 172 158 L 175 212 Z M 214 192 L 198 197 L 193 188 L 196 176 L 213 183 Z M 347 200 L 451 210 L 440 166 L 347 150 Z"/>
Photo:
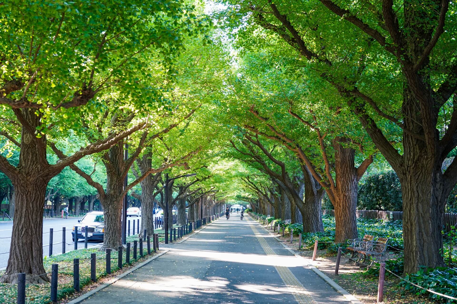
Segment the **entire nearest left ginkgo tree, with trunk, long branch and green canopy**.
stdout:
<path fill-rule="evenodd" d="M 107 101 L 133 109 L 159 108 L 163 89 L 148 81 L 148 54 L 172 74 L 181 37 L 206 31 L 210 23 L 181 1 L 78 0 L 9 1 L 0 5 L 0 104 L 2 135 L 20 147 L 19 165 L 0 157 L 0 170 L 16 191 L 10 256 L 3 283 L 26 273 L 32 283 L 48 281 L 43 268 L 42 210 L 48 181 L 64 167 L 108 149 L 147 126 L 146 120 L 88 144 L 55 164 L 47 161 L 48 139 L 65 125 L 82 128 L 80 110 L 96 116 Z M 27 13 L 24 13 L 27 12 Z M 155 58 L 154 58 L 155 59 Z M 36 210 L 36 212 L 29 212 Z M 21 231 L 29 231 L 24 237 Z"/>

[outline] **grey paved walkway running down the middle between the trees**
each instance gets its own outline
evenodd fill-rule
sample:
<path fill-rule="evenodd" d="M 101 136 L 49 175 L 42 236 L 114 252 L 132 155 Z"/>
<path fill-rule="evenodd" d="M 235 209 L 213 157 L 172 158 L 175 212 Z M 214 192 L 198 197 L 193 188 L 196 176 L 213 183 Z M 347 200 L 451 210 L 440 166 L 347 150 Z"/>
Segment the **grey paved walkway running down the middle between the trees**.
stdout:
<path fill-rule="evenodd" d="M 168 248 L 82 303 L 350 303 L 249 216 Z"/>

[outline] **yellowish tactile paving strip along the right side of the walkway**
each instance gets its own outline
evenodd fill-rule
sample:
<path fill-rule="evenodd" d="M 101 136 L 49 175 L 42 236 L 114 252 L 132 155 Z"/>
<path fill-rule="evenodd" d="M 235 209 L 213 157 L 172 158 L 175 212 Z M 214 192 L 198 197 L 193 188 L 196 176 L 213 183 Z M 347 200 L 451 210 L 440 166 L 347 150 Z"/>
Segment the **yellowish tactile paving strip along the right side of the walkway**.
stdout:
<path fill-rule="evenodd" d="M 265 251 L 266 255 L 274 255 L 276 256 L 275 252 L 271 249 L 268 243 L 265 241 L 265 238 L 262 236 L 261 233 L 257 230 L 255 226 L 252 224 L 249 225 L 254 232 L 255 237 L 259 240 L 260 246 L 262 246 L 263 251 Z M 295 300 L 297 300 L 298 304 L 314 304 L 315 302 L 309 295 L 309 292 L 303 287 L 303 284 L 298 281 L 297 277 L 290 271 L 289 268 L 284 266 L 275 266 L 276 271 L 278 272 L 279 276 L 282 278 L 282 281 L 286 286 L 290 289 L 291 293 Z"/>

